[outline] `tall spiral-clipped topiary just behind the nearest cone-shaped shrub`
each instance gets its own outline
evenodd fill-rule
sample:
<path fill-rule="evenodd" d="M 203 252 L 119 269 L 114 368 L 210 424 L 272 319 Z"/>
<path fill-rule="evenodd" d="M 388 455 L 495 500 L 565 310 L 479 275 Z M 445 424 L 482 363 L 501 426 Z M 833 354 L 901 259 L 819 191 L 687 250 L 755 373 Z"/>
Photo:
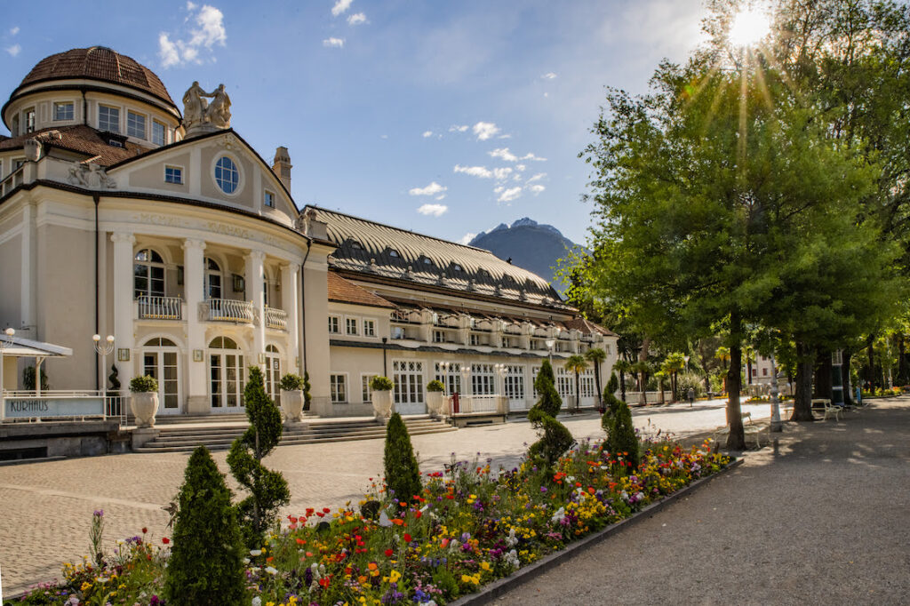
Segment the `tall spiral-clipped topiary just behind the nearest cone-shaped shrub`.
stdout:
<path fill-rule="evenodd" d="M 268 399 L 258 367 L 249 369 L 243 393 L 249 427 L 231 444 L 227 465 L 249 492 L 246 499 L 238 502 L 237 510 L 244 541 L 252 548 L 261 544 L 268 528 L 278 521 L 278 508 L 288 504 L 290 490 L 280 472 L 268 470 L 261 463 L 278 446 L 283 427 L 281 412 Z"/>

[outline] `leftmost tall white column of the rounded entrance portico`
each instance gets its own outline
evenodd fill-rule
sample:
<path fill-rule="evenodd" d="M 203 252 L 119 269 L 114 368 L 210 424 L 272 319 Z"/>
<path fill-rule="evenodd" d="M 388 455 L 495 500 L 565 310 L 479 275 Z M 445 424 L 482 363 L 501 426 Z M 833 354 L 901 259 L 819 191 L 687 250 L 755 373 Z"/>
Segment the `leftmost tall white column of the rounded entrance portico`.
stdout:
<path fill-rule="evenodd" d="M 133 246 L 136 237 L 116 232 L 111 234 L 111 241 L 114 242 L 114 336 L 117 350 L 126 349 L 129 352 L 129 361 L 117 364 L 120 392 L 126 396 L 129 381 L 136 376 L 136 355 L 133 351 Z M 106 374 L 102 373 L 102 376 Z"/>

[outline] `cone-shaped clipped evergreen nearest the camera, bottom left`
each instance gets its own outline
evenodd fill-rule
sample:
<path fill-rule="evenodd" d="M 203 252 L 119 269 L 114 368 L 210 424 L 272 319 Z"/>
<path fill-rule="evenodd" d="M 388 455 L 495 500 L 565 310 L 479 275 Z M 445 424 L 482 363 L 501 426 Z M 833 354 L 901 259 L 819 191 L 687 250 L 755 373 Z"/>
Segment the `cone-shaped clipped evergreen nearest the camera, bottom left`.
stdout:
<path fill-rule="evenodd" d="M 177 496 L 165 595 L 175 606 L 248 603 L 244 547 L 230 490 L 204 446 L 193 451 Z"/>

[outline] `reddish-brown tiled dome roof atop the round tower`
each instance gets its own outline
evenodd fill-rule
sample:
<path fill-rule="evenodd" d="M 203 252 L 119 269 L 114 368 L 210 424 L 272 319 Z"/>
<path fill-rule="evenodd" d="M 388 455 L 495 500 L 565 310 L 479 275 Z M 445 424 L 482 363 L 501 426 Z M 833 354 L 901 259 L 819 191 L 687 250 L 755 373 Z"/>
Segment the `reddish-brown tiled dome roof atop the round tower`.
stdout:
<path fill-rule="evenodd" d="M 137 63 L 135 59 L 120 55 L 106 46 L 74 48 L 66 53 L 45 57 L 32 68 L 28 76 L 25 76 L 13 96 L 24 86 L 37 82 L 73 78 L 86 78 L 129 86 L 156 96 L 168 106 L 177 109 L 174 100 L 167 94 L 167 88 L 152 70 Z"/>

